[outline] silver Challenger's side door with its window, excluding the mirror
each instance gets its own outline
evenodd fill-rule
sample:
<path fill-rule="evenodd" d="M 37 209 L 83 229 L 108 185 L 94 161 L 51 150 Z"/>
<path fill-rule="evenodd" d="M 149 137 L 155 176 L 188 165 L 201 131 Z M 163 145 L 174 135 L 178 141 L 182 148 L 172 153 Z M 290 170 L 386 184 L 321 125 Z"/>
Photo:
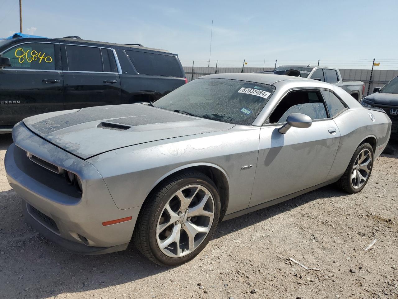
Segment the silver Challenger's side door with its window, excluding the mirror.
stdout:
<path fill-rule="evenodd" d="M 293 112 L 312 118 L 309 128 L 278 129 Z M 336 157 L 340 133 L 319 90 L 294 90 L 261 127 L 249 207 L 324 183 Z"/>

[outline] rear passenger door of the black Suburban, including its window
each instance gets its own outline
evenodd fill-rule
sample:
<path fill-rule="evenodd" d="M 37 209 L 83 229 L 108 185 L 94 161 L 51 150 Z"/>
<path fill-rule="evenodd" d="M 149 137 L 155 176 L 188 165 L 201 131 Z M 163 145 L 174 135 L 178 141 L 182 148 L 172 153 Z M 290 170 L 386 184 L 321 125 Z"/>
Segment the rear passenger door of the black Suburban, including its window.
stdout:
<path fill-rule="evenodd" d="M 61 44 L 61 53 L 65 110 L 120 104 L 119 72 L 112 49 Z"/>

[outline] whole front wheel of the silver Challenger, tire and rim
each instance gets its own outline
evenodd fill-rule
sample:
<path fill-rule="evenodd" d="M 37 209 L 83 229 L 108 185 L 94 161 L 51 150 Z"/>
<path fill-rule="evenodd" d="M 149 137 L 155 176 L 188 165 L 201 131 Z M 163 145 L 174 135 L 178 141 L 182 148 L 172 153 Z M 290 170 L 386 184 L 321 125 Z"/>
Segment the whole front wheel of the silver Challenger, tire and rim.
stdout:
<path fill-rule="evenodd" d="M 137 220 L 135 244 L 156 264 L 177 266 L 205 248 L 219 217 L 220 197 L 213 181 L 198 171 L 184 171 L 148 197 Z"/>

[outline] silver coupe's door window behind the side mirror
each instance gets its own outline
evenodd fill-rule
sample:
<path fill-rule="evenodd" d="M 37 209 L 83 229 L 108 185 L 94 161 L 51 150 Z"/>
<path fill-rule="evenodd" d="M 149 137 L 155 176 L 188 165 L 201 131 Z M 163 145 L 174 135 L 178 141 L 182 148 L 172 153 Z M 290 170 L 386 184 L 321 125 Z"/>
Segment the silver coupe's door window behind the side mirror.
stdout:
<path fill-rule="evenodd" d="M 269 117 L 270 123 L 286 122 L 293 112 L 310 116 L 312 120 L 328 118 L 324 102 L 317 91 L 292 91 L 279 102 Z"/>

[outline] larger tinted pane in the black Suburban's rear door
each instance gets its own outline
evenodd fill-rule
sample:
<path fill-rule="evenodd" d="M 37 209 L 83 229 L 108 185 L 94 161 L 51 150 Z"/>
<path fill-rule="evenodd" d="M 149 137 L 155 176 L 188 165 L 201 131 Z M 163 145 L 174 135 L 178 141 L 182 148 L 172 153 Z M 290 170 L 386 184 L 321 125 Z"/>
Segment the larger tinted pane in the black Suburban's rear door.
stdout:
<path fill-rule="evenodd" d="M 103 72 L 101 48 L 66 45 L 69 71 Z"/>

